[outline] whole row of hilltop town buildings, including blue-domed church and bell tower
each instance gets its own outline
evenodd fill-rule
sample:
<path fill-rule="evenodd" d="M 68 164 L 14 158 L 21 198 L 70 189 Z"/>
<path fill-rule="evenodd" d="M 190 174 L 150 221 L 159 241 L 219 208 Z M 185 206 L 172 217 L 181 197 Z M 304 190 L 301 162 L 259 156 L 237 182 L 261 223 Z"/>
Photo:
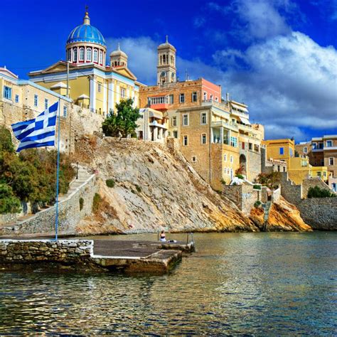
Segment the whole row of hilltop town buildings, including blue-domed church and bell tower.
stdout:
<path fill-rule="evenodd" d="M 240 205 L 247 193 L 233 188 L 249 186 L 251 195 L 261 188 L 257 178 L 263 173 L 279 172 L 277 193 L 299 208 L 310 187 L 336 193 L 337 135 L 299 144 L 291 135 L 264 139 L 264 126 L 250 122 L 249 106 L 237 102 L 235 92 L 201 77 L 178 79 L 176 51 L 166 36 L 157 48 L 157 81 L 145 85 L 129 69 L 119 44 L 109 53 L 86 11 L 82 25 L 68 36 L 65 60 L 31 71 L 29 80 L 0 68 L 0 124 L 10 128 L 60 100 L 60 150 L 75 154 L 80 137 L 102 132 L 102 122 L 116 113 L 116 105 L 132 99 L 140 113 L 138 141 L 179 149 L 200 177 L 240 210 L 249 213 L 255 202 L 276 198 L 275 191 L 266 191 L 264 198 L 252 198 L 249 208 L 243 201 Z"/>

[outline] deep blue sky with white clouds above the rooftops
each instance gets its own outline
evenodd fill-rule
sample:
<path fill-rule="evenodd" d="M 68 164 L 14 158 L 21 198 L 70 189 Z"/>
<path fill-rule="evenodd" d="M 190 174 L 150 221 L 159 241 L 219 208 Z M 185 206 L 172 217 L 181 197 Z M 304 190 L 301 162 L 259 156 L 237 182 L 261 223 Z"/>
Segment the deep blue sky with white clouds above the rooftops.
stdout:
<path fill-rule="evenodd" d="M 28 78 L 64 60 L 86 4 L 107 52 L 119 42 L 140 82 L 156 84 L 167 34 L 180 80 L 221 85 L 266 139 L 337 134 L 337 0 L 0 0 L 0 66 Z"/>

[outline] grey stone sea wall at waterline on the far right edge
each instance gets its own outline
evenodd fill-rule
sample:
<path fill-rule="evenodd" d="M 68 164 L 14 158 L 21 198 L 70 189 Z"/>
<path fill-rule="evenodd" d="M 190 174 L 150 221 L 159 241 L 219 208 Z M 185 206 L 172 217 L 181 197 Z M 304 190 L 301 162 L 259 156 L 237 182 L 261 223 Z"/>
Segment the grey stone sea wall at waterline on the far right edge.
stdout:
<path fill-rule="evenodd" d="M 297 208 L 314 230 L 337 230 L 337 197 L 304 199 Z"/>

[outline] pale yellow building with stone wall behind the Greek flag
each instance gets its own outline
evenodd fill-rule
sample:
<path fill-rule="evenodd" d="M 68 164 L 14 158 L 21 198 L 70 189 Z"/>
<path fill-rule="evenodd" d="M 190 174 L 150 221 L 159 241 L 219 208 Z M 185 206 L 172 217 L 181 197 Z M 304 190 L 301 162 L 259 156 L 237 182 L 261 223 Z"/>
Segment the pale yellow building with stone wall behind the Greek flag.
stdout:
<path fill-rule="evenodd" d="M 60 151 L 72 154 L 78 137 L 101 129 L 102 115 L 74 105 L 70 98 L 46 87 L 28 80 L 19 80 L 10 70 L 0 68 L 0 124 L 6 128 L 11 130 L 11 124 L 35 118 L 58 101 Z M 12 139 L 17 145 L 18 141 L 14 137 Z"/>

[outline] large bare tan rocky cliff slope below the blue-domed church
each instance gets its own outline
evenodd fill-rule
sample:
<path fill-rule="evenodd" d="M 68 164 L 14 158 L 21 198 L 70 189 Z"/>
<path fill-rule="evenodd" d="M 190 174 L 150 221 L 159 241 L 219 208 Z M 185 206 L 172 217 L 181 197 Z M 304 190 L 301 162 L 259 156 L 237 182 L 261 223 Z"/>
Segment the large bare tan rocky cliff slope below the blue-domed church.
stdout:
<path fill-rule="evenodd" d="M 260 230 L 234 203 L 213 191 L 179 151 L 164 145 L 83 137 L 77 140 L 74 160 L 98 171 L 102 197 L 95 215 L 77 225 L 83 234 L 161 228 L 171 232 Z M 107 187 L 107 179 L 114 181 L 114 187 Z"/>

